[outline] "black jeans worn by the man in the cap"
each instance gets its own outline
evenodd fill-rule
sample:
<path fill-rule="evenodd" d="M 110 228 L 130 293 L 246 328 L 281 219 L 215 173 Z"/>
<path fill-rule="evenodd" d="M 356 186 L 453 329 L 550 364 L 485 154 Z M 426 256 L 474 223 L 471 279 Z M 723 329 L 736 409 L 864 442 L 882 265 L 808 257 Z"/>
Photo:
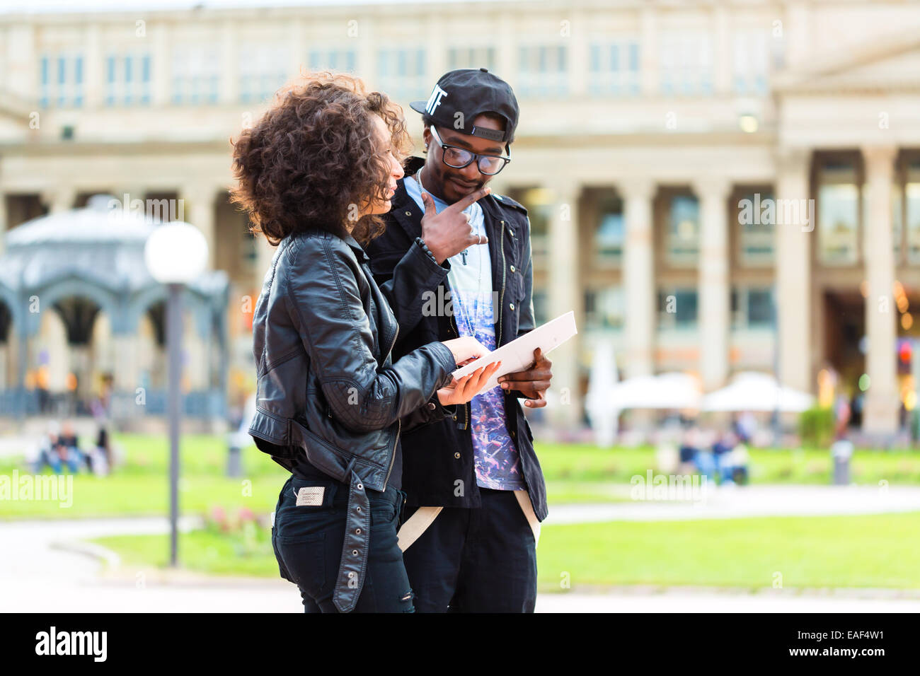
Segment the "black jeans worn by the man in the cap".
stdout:
<path fill-rule="evenodd" d="M 445 507 L 403 553 L 420 613 L 533 613 L 534 532 L 511 490 L 482 507 Z M 406 510 L 406 518 L 414 510 Z"/>

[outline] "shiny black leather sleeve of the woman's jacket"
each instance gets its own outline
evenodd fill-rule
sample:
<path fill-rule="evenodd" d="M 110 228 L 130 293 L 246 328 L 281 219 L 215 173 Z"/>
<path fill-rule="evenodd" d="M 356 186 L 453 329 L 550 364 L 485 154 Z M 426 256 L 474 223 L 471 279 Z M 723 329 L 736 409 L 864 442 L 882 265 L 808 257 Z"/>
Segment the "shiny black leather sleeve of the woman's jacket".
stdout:
<path fill-rule="evenodd" d="M 390 366 L 378 367 L 351 251 L 327 237 L 292 246 L 299 258 L 287 280 L 293 325 L 304 343 L 331 413 L 354 432 L 382 430 L 423 407 L 456 368 L 446 345 L 432 342 Z M 369 280 L 369 283 L 374 283 Z"/>

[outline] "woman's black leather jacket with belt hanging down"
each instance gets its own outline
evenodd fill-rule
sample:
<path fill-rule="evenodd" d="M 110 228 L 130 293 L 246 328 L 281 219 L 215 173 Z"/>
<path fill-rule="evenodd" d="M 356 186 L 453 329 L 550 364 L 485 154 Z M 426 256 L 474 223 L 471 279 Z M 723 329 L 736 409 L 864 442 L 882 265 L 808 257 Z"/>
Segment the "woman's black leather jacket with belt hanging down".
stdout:
<path fill-rule="evenodd" d="M 420 246 L 409 250 L 407 274 L 424 276 L 424 258 Z M 367 262 L 351 236 L 312 230 L 285 237 L 252 327 L 259 382 L 249 434 L 283 467 L 290 470 L 305 453 L 310 464 L 350 485 L 333 595 L 341 612 L 354 608 L 367 570 L 365 489 L 385 490 L 404 427 L 454 413 L 436 395 L 456 368 L 451 350 L 432 341 L 392 361 L 399 326 Z"/>

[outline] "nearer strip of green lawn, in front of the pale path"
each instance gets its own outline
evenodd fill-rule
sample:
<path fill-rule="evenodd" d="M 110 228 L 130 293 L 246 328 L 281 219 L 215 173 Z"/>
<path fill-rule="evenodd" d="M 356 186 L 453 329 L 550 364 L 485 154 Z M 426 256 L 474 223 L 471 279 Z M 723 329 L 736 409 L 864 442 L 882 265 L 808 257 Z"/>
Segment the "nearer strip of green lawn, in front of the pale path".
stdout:
<path fill-rule="evenodd" d="M 540 589 L 614 585 L 920 588 L 920 513 L 545 526 Z M 127 567 L 163 567 L 165 535 L 100 538 Z M 184 567 L 278 577 L 267 529 L 181 535 Z"/>

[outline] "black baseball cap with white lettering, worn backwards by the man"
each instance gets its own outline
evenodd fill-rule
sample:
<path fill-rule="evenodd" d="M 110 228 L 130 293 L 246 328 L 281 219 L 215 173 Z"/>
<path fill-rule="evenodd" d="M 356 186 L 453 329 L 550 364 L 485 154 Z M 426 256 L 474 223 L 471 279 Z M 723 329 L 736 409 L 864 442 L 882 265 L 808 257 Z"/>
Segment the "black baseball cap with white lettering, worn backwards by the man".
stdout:
<path fill-rule="evenodd" d="M 427 101 L 412 101 L 409 106 L 430 116 L 440 127 L 500 143 L 512 143 L 520 113 L 511 85 L 487 68 L 459 68 L 445 73 Z M 473 126 L 477 115 L 485 112 L 503 117 L 505 131 Z"/>

